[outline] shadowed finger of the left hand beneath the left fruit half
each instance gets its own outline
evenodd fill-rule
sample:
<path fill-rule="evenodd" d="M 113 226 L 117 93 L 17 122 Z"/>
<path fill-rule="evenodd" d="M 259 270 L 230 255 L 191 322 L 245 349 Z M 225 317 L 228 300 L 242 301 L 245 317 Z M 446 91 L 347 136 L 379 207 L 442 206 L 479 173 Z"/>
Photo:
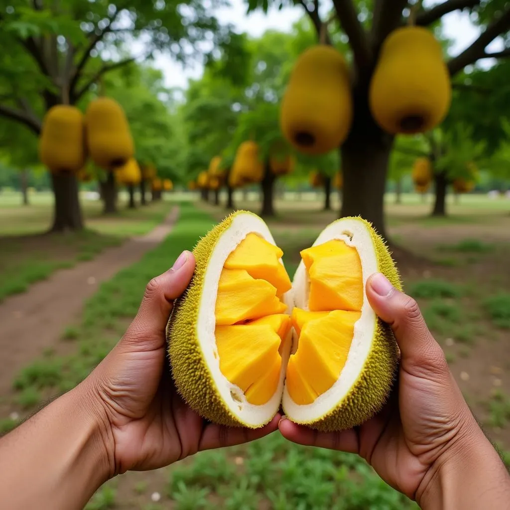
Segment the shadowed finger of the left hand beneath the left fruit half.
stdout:
<path fill-rule="evenodd" d="M 277 414 L 267 425 L 261 428 L 226 427 L 210 423 L 203 430 L 198 449 L 224 448 L 225 446 L 249 443 L 250 441 L 263 438 L 277 430 L 280 418 L 281 416 Z"/>

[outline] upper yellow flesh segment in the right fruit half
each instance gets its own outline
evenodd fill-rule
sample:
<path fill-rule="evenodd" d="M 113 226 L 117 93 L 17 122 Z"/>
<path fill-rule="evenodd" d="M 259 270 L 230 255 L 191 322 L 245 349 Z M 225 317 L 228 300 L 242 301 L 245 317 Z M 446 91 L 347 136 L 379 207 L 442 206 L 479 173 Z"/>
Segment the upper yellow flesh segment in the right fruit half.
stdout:
<path fill-rule="evenodd" d="M 312 312 L 361 310 L 363 272 L 356 248 L 333 239 L 302 250 L 301 258 L 310 276 Z"/>

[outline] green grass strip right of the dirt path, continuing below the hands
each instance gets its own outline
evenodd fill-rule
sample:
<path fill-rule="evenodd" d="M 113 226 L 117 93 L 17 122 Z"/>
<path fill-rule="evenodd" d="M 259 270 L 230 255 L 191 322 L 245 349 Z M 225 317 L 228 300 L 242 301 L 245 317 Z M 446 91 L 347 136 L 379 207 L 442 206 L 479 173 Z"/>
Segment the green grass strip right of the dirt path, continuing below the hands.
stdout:
<path fill-rule="evenodd" d="M 49 355 L 26 367 L 14 381 L 18 391 L 33 387 L 42 393 L 44 388 L 78 384 L 108 353 L 119 331 L 135 315 L 149 279 L 166 270 L 183 249 L 192 248 L 212 224 L 205 213 L 183 206 L 170 236 L 140 262 L 101 285 L 86 303 L 82 323 L 75 329 L 76 352 L 60 358 Z M 295 242 L 301 242 L 299 236 Z M 290 242 L 288 247 L 292 248 Z M 242 465 L 236 458 L 242 459 Z M 144 489 L 142 485 L 139 492 Z M 294 445 L 278 433 L 249 445 L 202 452 L 177 463 L 171 467 L 166 491 L 162 492 L 172 499 L 171 507 L 180 510 L 251 510 L 262 505 L 276 510 L 416 507 L 381 481 L 361 458 Z M 113 489 L 104 487 L 87 508 L 110 508 L 115 497 Z"/>

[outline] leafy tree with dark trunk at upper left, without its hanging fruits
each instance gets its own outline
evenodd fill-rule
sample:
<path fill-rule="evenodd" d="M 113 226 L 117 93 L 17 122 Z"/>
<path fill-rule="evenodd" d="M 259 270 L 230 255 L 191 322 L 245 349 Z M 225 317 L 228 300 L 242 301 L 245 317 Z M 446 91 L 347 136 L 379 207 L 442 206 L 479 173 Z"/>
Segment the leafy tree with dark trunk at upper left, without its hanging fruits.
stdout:
<path fill-rule="evenodd" d="M 216 2 L 211 3 L 215 7 Z M 189 20 L 193 20 L 190 22 Z M 57 104 L 82 104 L 103 76 L 154 52 L 177 58 L 205 38 L 224 36 L 199 0 L 13 0 L 0 15 L 0 116 L 41 130 L 44 113 Z M 131 52 L 143 39 L 143 55 Z M 55 218 L 52 230 L 83 225 L 75 176 L 52 174 Z"/>

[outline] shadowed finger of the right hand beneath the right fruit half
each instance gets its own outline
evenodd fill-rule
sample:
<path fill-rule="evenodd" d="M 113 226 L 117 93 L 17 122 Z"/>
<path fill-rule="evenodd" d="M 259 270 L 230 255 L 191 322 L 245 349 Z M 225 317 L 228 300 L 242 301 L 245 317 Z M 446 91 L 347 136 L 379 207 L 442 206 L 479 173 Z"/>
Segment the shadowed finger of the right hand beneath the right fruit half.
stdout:
<path fill-rule="evenodd" d="M 354 429 L 340 432 L 319 432 L 290 421 L 285 416 L 279 421 L 282 436 L 293 443 L 304 446 L 318 446 L 329 450 L 358 453 L 360 450 L 358 433 Z"/>

